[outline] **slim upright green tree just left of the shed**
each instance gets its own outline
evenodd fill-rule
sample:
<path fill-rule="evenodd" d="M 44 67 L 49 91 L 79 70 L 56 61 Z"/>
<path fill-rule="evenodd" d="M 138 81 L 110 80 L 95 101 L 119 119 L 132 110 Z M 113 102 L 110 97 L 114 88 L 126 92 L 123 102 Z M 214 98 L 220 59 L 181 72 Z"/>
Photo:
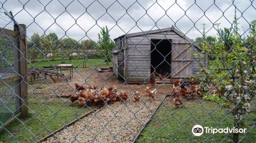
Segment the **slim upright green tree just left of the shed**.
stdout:
<path fill-rule="evenodd" d="M 106 64 L 109 64 L 109 62 L 112 59 L 112 51 L 114 49 L 115 43 L 111 41 L 109 29 L 106 26 L 105 28 L 101 28 L 100 33 L 98 34 L 99 40 L 98 40 L 98 49 L 101 52 L 101 55 L 105 58 Z"/>

